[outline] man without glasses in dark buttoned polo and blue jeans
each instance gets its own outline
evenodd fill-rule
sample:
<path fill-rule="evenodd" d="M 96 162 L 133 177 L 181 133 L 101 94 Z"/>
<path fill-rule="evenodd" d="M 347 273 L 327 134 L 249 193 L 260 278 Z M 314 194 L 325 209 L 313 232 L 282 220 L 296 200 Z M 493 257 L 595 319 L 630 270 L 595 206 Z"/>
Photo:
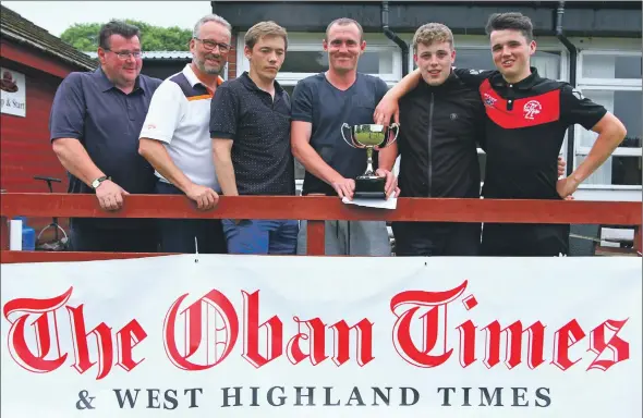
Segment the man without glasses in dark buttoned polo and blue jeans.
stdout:
<path fill-rule="evenodd" d="M 274 22 L 245 35 L 250 73 L 219 86 L 211 102 L 210 136 L 217 177 L 225 196 L 293 196 L 290 97 L 275 81 L 283 64 L 288 36 Z M 230 254 L 296 253 L 296 220 L 225 219 Z"/>

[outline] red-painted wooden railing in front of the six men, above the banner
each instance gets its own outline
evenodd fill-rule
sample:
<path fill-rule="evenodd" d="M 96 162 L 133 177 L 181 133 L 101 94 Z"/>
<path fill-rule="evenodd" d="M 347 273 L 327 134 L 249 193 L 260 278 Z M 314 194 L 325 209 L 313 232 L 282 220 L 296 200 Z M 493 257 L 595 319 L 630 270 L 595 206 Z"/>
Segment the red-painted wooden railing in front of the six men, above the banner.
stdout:
<path fill-rule="evenodd" d="M 198 211 L 185 196 L 131 195 L 118 212 L 105 212 L 93 195 L 4 193 L 1 195 L 1 262 L 80 261 L 163 254 L 10 251 L 7 220 L 24 217 L 231 218 L 308 220 L 307 254 L 324 255 L 325 220 L 442 221 L 502 223 L 571 223 L 631 225 L 634 247 L 642 248 L 641 202 L 582 200 L 492 200 L 400 198 L 395 210 L 344 205 L 325 196 L 221 197 L 210 211 Z"/>

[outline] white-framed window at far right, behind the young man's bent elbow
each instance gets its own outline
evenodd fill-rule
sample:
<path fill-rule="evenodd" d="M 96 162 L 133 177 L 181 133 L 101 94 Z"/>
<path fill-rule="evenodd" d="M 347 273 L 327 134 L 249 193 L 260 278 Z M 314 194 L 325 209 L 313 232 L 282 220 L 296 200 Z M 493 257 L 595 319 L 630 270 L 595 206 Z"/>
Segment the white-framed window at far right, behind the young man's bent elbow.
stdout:
<path fill-rule="evenodd" d="M 584 185 L 640 188 L 643 136 L 641 52 L 582 51 L 578 88 L 583 96 L 605 106 L 628 130 L 628 135 L 619 148 L 584 182 Z M 578 167 L 590 153 L 598 135 L 582 126 L 577 126 L 575 130 L 575 167 Z"/>

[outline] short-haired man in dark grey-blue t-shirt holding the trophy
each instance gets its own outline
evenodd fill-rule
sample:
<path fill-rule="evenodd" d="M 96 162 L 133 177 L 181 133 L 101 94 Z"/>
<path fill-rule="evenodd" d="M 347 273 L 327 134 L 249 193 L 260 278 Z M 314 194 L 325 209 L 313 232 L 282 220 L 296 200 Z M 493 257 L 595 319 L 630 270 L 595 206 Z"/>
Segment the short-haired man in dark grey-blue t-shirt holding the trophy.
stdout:
<path fill-rule="evenodd" d="M 324 50 L 328 71 L 302 79 L 292 96 L 292 151 L 306 169 L 303 195 L 353 197 L 354 179 L 366 170 L 364 149 L 350 147 L 341 136 L 343 123 L 373 123 L 375 107 L 387 91 L 380 78 L 357 73 L 364 52 L 362 26 L 351 19 L 338 19 L 328 25 Z M 397 181 L 390 172 L 395 161 L 383 161 L 377 152 L 377 174 L 386 177 L 387 197 Z M 305 221 L 300 229 L 298 254 L 306 251 Z M 327 221 L 326 254 L 390 256 L 385 222 Z"/>

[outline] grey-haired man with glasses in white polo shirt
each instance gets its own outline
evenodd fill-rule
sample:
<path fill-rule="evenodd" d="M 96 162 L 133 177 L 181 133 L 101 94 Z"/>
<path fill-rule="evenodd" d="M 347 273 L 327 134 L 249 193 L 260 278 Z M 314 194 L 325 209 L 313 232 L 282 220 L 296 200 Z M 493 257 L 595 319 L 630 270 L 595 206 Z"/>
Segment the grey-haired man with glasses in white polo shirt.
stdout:
<path fill-rule="evenodd" d="M 211 98 L 223 79 L 231 26 L 210 14 L 194 26 L 192 62 L 155 91 L 138 152 L 155 168 L 158 194 L 184 194 L 201 210 L 213 209 L 220 192 L 209 133 Z M 219 220 L 161 220 L 161 248 L 168 253 L 226 253 Z"/>

